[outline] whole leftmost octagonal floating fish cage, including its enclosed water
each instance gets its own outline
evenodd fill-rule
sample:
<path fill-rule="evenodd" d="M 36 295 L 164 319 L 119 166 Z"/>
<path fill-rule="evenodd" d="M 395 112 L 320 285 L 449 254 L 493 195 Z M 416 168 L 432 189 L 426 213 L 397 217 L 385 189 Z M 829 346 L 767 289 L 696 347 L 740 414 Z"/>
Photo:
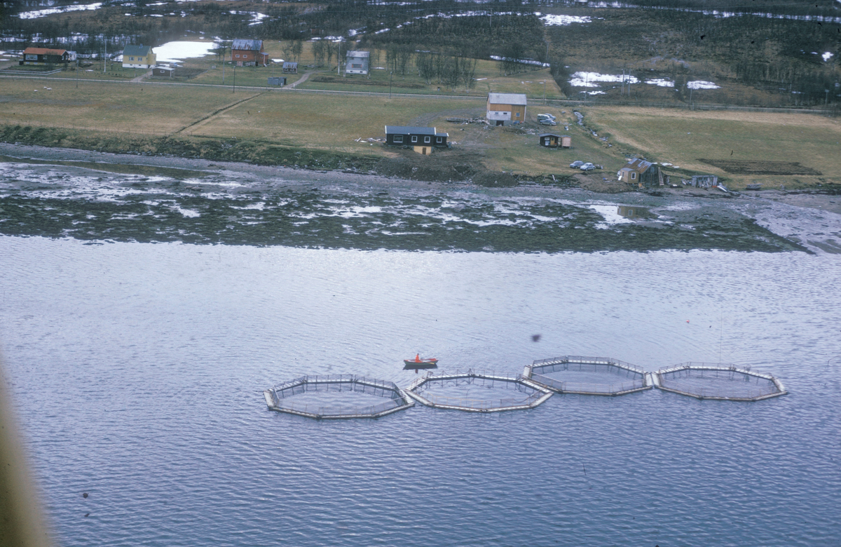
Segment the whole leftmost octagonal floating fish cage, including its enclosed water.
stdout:
<path fill-rule="evenodd" d="M 377 417 L 413 404 L 393 382 L 355 374 L 302 376 L 264 395 L 272 410 L 318 418 Z"/>

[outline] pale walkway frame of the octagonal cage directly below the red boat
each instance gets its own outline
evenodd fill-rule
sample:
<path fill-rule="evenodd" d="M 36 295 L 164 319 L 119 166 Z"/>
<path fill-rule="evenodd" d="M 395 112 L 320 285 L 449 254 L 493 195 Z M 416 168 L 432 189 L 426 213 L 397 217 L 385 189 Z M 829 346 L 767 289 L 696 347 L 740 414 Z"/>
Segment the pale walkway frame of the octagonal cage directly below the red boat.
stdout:
<path fill-rule="evenodd" d="M 426 392 L 426 385 L 435 385 L 436 382 L 442 386 L 447 381 L 466 380 L 466 383 L 473 384 L 477 380 L 481 380 L 483 384 L 490 382 L 491 386 L 495 382 L 500 382 L 506 387 L 514 385 L 515 389 L 526 393 L 525 399 L 466 399 L 457 397 L 435 396 Z M 526 410 L 541 405 L 549 397 L 552 396 L 552 390 L 547 390 L 542 385 L 538 385 L 531 380 L 523 378 L 520 374 L 511 376 L 508 374 L 500 374 L 496 372 L 482 372 L 468 369 L 467 372 L 429 372 L 420 378 L 413 381 L 405 390 L 406 394 L 414 398 L 415 401 L 422 405 L 431 406 L 433 408 L 443 408 L 448 410 L 460 410 L 466 412 L 501 412 L 509 410 Z M 423 393 L 423 395 L 421 395 Z"/>

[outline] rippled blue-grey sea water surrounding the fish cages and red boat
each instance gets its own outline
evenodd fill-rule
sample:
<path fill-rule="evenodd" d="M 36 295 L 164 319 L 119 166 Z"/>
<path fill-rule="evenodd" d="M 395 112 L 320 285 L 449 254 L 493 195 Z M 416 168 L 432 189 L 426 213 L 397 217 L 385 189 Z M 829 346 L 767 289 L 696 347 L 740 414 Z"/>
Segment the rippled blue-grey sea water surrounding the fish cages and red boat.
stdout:
<path fill-rule="evenodd" d="M 60 544 L 841 543 L 838 256 L 2 236 L 0 258 L 0 349 Z M 407 385 L 415 353 L 732 362 L 791 394 L 339 422 L 262 398 L 301 374 Z"/>

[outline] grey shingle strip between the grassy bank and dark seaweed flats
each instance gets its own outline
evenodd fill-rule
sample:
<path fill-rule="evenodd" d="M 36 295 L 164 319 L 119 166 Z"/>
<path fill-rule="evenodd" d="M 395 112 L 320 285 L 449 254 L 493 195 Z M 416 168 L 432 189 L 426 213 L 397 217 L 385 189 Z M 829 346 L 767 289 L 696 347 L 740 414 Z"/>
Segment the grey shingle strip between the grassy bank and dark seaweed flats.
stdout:
<path fill-rule="evenodd" d="M 48 146 L 0 143 L 0 161 L 33 165 L 82 168 L 103 173 L 146 175 L 176 179 L 192 188 L 223 189 L 232 195 L 283 189 L 346 194 L 464 194 L 482 199 L 547 199 L 578 206 L 632 206 L 666 214 L 674 222 L 691 224 L 733 222 L 736 215 L 755 221 L 795 247 L 817 253 L 841 253 L 841 233 L 826 233 L 829 226 L 841 227 L 841 196 L 815 192 L 787 193 L 761 190 L 756 194 L 724 194 L 700 189 L 658 189 L 655 192 L 601 194 L 589 189 L 561 188 L 538 184 L 488 188 L 466 182 L 426 182 L 378 174 L 326 171 L 294 167 L 262 166 L 245 162 L 220 162 L 201 158 L 140 156 Z M 98 165 L 97 165 L 98 164 Z M 114 168 L 98 168 L 114 167 Z M 219 184 L 199 180 L 204 176 L 235 183 Z M 223 187 L 228 188 L 223 188 Z M 191 188 L 191 187 L 188 187 Z M 20 191 L 25 192 L 25 188 Z M 639 226 L 653 226 L 646 219 L 634 220 Z"/>

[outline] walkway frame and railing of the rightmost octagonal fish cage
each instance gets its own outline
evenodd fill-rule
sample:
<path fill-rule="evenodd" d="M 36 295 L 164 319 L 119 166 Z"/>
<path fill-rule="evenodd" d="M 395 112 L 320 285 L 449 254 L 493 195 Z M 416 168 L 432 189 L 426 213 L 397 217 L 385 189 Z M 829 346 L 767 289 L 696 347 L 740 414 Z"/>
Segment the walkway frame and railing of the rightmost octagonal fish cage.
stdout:
<path fill-rule="evenodd" d="M 705 376 L 705 374 L 710 375 Z M 695 397 L 696 399 L 711 399 L 713 401 L 762 401 L 771 397 L 783 396 L 788 391 L 783 383 L 772 376 L 756 372 L 749 368 L 739 369 L 734 364 L 709 364 L 709 363 L 682 363 L 673 367 L 664 367 L 653 373 L 654 385 L 664 391 L 671 391 L 680 395 Z M 675 379 L 685 378 L 688 380 L 699 379 L 722 379 L 732 381 L 733 385 L 739 385 L 741 389 L 738 395 L 727 395 L 722 387 L 699 387 L 690 389 L 690 386 L 675 387 Z M 744 386 L 754 382 L 757 387 Z M 765 387 L 760 387 L 763 383 Z M 671 385 L 669 385 L 671 384 Z"/>

